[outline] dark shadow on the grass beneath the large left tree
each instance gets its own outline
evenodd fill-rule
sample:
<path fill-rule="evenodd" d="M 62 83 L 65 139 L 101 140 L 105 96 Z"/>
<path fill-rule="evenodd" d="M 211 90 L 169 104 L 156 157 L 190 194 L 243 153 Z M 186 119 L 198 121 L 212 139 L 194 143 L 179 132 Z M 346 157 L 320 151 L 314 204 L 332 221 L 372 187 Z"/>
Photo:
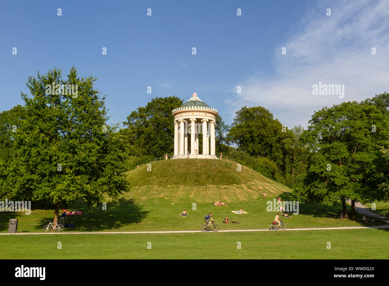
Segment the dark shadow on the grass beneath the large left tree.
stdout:
<path fill-rule="evenodd" d="M 78 204 L 79 205 L 79 204 Z M 144 211 L 143 207 L 136 204 L 131 199 L 121 198 L 118 202 L 107 203 L 107 210 L 102 207 L 79 207 L 81 215 L 68 215 L 65 225 L 74 224 L 74 227 L 65 228 L 66 232 L 96 232 L 104 230 L 116 230 L 122 226 L 140 223 L 145 219 L 150 211 Z M 61 213 L 60 213 L 61 214 Z M 35 229 L 42 230 L 53 218 L 41 218 L 37 222 Z"/>

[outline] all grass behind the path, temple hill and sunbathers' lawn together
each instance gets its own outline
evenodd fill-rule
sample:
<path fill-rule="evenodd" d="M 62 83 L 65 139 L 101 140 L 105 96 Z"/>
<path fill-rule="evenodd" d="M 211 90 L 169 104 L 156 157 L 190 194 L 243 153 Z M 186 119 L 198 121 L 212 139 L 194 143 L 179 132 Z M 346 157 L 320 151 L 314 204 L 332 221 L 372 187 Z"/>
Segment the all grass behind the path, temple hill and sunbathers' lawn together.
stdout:
<path fill-rule="evenodd" d="M 106 198 L 107 209 L 102 205 L 89 209 L 79 201 L 68 206 L 68 210 L 82 211 L 82 215 L 68 216 L 65 228 L 74 231 L 162 231 L 199 230 L 204 215 L 212 212 L 212 218 L 220 229 L 266 229 L 275 217 L 267 211 L 268 202 L 280 196 L 293 200 L 290 189 L 257 172 L 226 160 L 163 160 L 151 163 L 126 173 L 131 188 L 118 201 Z M 268 198 L 262 197 L 266 191 Z M 214 206 L 212 202 L 222 200 L 227 206 Z M 243 207 L 248 214 L 234 214 Z M 189 216 L 179 214 L 186 209 Z M 340 220 L 340 204 L 333 206 L 300 202 L 299 214 L 286 218 L 288 228 L 360 226 L 362 215 L 357 219 Z M 223 219 L 231 218 L 240 224 L 224 225 Z M 19 232 L 43 232 L 43 226 L 53 221 L 53 209 L 33 208 L 30 215 L 23 212 L 2 212 L 0 232 L 7 232 L 8 220 L 19 219 Z"/>

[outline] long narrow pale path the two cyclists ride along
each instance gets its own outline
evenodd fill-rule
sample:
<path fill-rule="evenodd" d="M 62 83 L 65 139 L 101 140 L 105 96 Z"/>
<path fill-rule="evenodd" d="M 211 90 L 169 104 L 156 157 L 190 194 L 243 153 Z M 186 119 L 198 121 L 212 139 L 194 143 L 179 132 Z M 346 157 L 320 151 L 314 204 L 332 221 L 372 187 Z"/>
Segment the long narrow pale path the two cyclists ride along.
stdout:
<path fill-rule="evenodd" d="M 389 225 L 377 226 L 343 226 L 343 227 L 322 227 L 322 228 L 287 228 L 286 230 L 345 230 L 359 228 L 389 228 Z M 219 230 L 218 232 L 267 232 L 269 229 L 262 230 Z M 280 230 L 281 231 L 281 230 Z M 117 233 L 189 233 L 200 232 L 200 230 L 182 230 L 182 231 L 166 231 L 166 232 L 21 232 L 21 233 L 0 233 L 0 235 L 25 235 L 25 234 L 117 234 Z"/>

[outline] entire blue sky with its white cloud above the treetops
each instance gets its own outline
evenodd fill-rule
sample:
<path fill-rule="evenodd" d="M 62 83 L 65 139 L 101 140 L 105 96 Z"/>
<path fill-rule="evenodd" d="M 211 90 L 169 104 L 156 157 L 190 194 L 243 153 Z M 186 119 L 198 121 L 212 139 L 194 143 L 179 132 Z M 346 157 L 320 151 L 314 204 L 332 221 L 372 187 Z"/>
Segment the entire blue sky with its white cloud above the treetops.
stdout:
<path fill-rule="evenodd" d="M 28 76 L 73 65 L 99 78 L 110 123 L 151 98 L 196 92 L 227 124 L 262 105 L 306 127 L 323 106 L 389 91 L 389 1 L 35 1 L 1 11 L 0 111 L 23 104 Z M 344 84 L 345 97 L 312 95 L 319 82 Z"/>

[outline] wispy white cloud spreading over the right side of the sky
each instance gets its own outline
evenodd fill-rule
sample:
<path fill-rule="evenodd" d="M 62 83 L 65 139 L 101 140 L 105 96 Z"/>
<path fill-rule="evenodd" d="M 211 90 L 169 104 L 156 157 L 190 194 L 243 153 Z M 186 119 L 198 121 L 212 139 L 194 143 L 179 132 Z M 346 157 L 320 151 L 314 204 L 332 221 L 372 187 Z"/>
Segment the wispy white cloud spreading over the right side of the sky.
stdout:
<path fill-rule="evenodd" d="M 327 8 L 331 16 L 325 16 Z M 226 102 L 231 111 L 262 105 L 288 127 L 306 127 L 323 106 L 389 91 L 389 1 L 334 2 L 307 12 L 300 32 L 274 47 L 276 74 L 253 75 L 237 84 L 242 93 Z M 282 47 L 286 55 L 281 54 Z M 371 47 L 377 49 L 376 55 Z M 319 81 L 344 84 L 345 97 L 312 95 L 312 85 Z"/>

